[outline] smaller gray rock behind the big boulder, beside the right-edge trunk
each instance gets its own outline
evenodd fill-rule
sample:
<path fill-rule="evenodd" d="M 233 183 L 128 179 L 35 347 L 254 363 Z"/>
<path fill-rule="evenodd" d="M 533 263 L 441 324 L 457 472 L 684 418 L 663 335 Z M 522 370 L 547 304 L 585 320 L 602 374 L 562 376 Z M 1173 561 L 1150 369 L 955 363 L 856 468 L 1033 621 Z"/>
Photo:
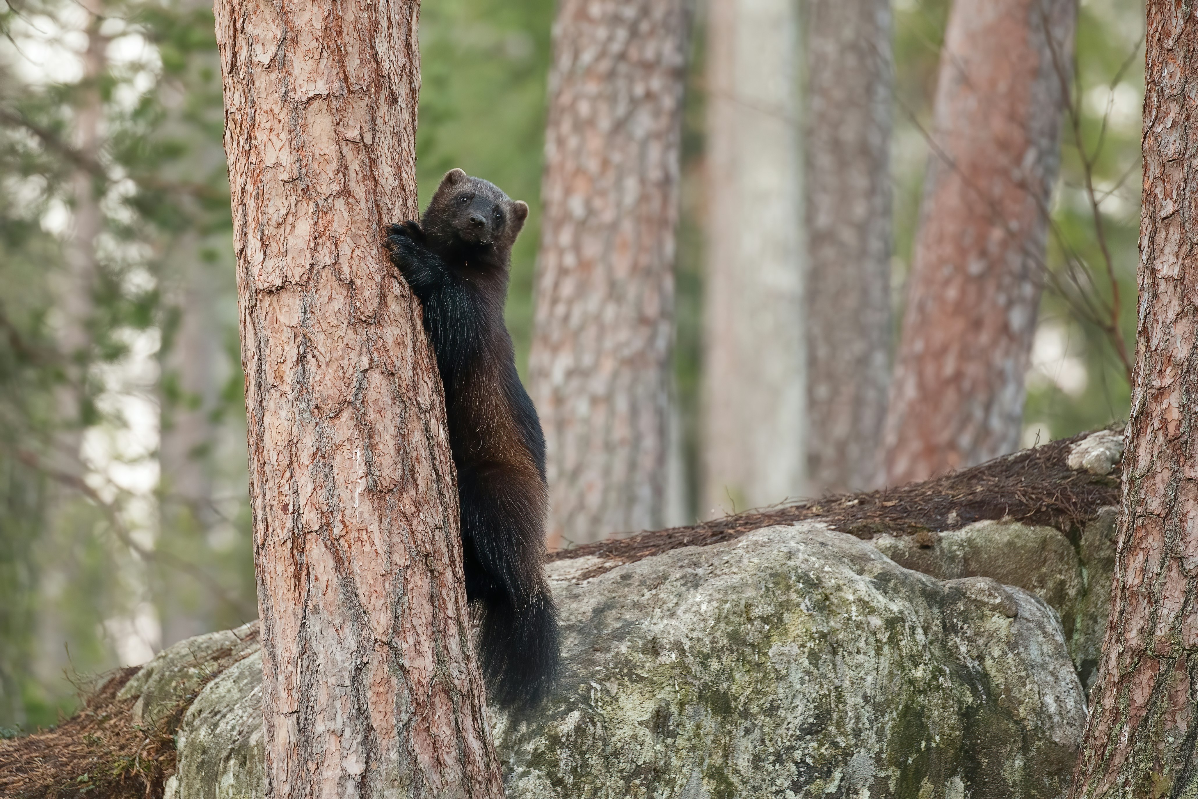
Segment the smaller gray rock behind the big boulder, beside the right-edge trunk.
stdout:
<path fill-rule="evenodd" d="M 936 533 L 931 546 L 914 535 L 877 535 L 870 544 L 900 565 L 940 580 L 992 577 L 1036 594 L 1060 615 L 1073 665 L 1089 690 L 1111 612 L 1118 515 L 1117 508 L 1100 509 L 1076 545 L 1053 527 L 1016 521 Z"/>

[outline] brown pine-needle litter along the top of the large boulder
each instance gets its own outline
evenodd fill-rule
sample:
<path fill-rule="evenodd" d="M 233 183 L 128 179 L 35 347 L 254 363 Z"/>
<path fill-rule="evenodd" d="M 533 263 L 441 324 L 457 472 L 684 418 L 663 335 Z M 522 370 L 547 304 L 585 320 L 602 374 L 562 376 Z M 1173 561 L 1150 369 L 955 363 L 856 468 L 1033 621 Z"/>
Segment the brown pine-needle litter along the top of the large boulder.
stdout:
<path fill-rule="evenodd" d="M 679 546 L 708 546 L 744 533 L 818 520 L 857 538 L 883 533 L 915 535 L 934 541 L 934 533 L 958 529 L 982 520 L 1011 519 L 1047 525 L 1076 540 L 1100 508 L 1118 506 L 1118 464 L 1108 474 L 1070 468 L 1069 455 L 1089 432 L 1023 449 L 992 461 L 950 472 L 924 483 L 846 494 L 749 510 L 690 527 L 673 527 L 610 538 L 559 550 L 550 561 L 594 555 L 615 563 L 631 563 Z"/>

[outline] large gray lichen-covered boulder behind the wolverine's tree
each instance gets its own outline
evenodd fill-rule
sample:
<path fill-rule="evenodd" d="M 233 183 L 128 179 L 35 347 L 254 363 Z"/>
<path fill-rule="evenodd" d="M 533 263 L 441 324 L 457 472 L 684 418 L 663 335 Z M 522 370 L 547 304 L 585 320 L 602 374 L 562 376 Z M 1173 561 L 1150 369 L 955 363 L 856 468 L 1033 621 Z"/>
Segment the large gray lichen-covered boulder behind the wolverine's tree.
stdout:
<path fill-rule="evenodd" d="M 1027 591 L 937 580 L 813 522 L 610 567 L 550 565 L 564 673 L 534 715 L 492 720 L 509 797 L 1064 792 L 1084 698 Z M 238 654 L 182 720 L 175 799 L 261 795 L 261 664 Z"/>

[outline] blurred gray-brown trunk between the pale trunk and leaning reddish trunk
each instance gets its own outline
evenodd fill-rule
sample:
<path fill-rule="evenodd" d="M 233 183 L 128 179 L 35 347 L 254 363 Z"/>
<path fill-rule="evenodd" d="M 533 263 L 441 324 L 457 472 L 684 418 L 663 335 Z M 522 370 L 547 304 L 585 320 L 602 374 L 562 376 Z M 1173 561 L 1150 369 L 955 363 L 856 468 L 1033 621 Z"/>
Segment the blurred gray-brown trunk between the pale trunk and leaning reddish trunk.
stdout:
<path fill-rule="evenodd" d="M 877 480 L 890 377 L 889 0 L 806 5 L 807 474 Z"/>

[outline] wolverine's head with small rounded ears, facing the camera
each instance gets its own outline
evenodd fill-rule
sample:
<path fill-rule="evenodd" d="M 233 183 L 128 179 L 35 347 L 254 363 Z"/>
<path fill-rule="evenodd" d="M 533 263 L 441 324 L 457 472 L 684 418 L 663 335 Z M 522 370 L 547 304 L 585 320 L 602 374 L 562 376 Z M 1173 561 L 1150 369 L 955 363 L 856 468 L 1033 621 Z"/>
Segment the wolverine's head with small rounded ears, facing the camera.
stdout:
<path fill-rule="evenodd" d="M 495 183 L 450 169 L 424 211 L 425 235 L 476 247 L 512 247 L 528 205 L 512 201 Z"/>

